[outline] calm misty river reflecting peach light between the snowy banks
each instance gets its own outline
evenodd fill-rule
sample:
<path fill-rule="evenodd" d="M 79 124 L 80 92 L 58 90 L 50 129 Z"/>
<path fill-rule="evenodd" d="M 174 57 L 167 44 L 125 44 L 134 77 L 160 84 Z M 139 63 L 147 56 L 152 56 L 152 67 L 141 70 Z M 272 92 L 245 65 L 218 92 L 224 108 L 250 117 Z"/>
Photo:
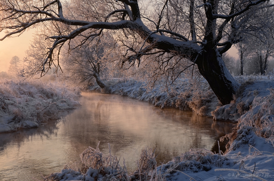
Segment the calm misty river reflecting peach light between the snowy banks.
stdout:
<path fill-rule="evenodd" d="M 80 161 L 88 146 L 125 159 L 136 169 L 142 148 L 156 148 L 157 165 L 190 148 L 218 150 L 232 123 L 109 94 L 82 93 L 82 106 L 39 128 L 0 134 L 0 180 L 29 181 Z M 222 150 L 224 144 L 221 144 Z M 41 179 L 42 180 L 42 179 Z"/>

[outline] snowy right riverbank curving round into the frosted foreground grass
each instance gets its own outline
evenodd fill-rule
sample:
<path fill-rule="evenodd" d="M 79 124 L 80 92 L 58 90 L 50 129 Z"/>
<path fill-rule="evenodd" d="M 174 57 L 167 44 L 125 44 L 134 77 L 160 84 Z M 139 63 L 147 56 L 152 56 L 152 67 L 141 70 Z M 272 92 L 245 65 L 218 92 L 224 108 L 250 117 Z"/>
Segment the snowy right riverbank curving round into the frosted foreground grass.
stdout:
<path fill-rule="evenodd" d="M 129 96 L 155 104 L 193 110 L 198 115 L 215 120 L 237 121 L 226 153 L 192 149 L 172 161 L 156 167 L 153 151 L 143 151 L 136 172 L 129 174 L 125 167 L 98 148 L 88 148 L 81 155 L 79 170 L 66 167 L 52 174 L 53 180 L 274 180 L 274 81 L 269 77 L 236 77 L 242 86 L 228 105 L 219 101 L 206 81 L 193 83 L 187 79 L 169 89 L 161 85 L 147 91 L 137 81 L 112 81 L 103 92 Z M 91 90 L 98 90 L 97 87 Z M 120 161 L 121 162 L 121 161 Z M 74 165 L 75 166 L 75 165 Z M 80 172 L 79 172 L 80 171 Z"/>

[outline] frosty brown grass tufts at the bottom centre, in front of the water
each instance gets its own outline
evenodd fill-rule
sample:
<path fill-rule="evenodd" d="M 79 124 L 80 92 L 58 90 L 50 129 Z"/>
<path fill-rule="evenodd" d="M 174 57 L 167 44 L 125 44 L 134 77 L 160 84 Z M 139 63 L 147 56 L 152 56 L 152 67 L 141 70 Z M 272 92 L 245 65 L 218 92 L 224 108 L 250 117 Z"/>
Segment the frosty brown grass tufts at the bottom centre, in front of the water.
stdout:
<path fill-rule="evenodd" d="M 100 143 L 100 142 L 99 142 Z M 139 161 L 136 161 L 137 169 L 129 174 L 125 166 L 120 165 L 120 160 L 111 155 L 105 155 L 97 148 L 87 148 L 81 155 L 82 164 L 66 165 L 60 173 L 45 177 L 46 180 L 163 180 L 163 176 L 157 174 L 155 154 L 152 149 L 143 149 Z M 109 145 L 110 147 L 110 145 Z M 125 162 L 123 162 L 125 163 Z M 78 172 L 74 171 L 78 170 Z"/>

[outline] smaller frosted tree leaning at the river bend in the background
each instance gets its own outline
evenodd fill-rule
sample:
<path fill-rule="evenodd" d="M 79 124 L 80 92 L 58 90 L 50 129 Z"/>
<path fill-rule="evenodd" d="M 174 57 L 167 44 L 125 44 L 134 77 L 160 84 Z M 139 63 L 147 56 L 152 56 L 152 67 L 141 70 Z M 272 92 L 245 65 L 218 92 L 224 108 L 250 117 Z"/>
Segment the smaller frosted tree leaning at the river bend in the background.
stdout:
<path fill-rule="evenodd" d="M 92 42 L 81 44 L 81 40 L 75 38 L 69 45 L 65 45 L 60 59 L 64 65 L 63 74 L 59 74 L 59 80 L 81 88 L 93 85 L 95 81 L 101 88 L 106 87 L 103 79 L 111 74 L 108 70 L 115 61 L 115 41 L 107 32 L 104 34 L 103 37 L 95 37 Z M 81 46 L 77 47 L 79 44 Z"/>

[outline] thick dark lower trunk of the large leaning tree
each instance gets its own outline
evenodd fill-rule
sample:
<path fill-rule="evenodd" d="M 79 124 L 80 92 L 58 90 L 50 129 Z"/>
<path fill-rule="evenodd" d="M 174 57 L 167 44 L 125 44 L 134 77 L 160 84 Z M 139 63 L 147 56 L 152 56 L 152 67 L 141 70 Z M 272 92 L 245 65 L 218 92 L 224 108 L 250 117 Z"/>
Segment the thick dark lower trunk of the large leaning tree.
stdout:
<path fill-rule="evenodd" d="M 214 48 L 205 47 L 204 50 L 196 61 L 200 74 L 208 81 L 221 103 L 229 104 L 239 88 L 239 83 L 229 73 L 222 57 Z"/>

